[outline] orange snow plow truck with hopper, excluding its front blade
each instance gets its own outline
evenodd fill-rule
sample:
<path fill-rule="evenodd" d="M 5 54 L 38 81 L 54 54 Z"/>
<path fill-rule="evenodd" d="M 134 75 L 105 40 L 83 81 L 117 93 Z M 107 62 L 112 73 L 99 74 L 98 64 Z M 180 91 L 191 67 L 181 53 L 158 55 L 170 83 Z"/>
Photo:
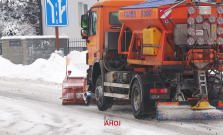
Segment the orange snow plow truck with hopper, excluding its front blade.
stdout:
<path fill-rule="evenodd" d="M 95 3 L 81 18 L 89 65 L 83 95 L 94 94 L 100 111 L 130 100 L 137 119 L 222 119 L 222 3 Z"/>

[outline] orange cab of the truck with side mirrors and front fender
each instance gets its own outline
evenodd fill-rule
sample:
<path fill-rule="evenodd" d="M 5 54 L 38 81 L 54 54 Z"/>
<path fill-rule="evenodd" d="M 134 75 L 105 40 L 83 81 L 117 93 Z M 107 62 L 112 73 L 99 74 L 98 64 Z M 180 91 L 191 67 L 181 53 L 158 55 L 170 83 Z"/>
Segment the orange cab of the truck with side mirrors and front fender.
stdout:
<path fill-rule="evenodd" d="M 104 74 L 103 55 L 116 57 L 116 61 L 107 59 L 113 67 L 119 67 L 121 62 L 118 61 L 117 49 L 118 38 L 122 27 L 122 22 L 119 20 L 119 9 L 130 5 L 140 4 L 145 0 L 108 0 L 94 4 L 87 14 L 82 15 L 81 34 L 82 38 L 86 39 L 88 47 L 86 63 L 90 66 L 88 69 L 87 83 L 95 92 L 95 84 L 99 75 Z M 123 42 L 128 45 L 131 41 L 131 33 L 125 34 L 126 38 Z M 128 46 L 125 47 L 128 49 Z M 104 53 L 103 53 L 104 52 Z M 115 54 L 114 54 L 115 53 Z M 116 55 L 116 56 L 115 56 Z M 116 62 L 116 63 L 115 63 Z M 112 67 L 112 66 L 111 66 Z M 111 68 L 109 67 L 109 68 Z"/>

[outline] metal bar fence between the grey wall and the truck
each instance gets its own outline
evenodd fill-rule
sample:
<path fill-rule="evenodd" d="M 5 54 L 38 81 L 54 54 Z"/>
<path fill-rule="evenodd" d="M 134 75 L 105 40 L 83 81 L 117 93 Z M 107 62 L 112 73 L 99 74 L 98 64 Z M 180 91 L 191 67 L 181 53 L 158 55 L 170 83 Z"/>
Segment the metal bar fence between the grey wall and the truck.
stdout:
<path fill-rule="evenodd" d="M 81 38 L 74 38 L 69 40 L 68 53 L 71 51 L 86 51 L 86 42 Z"/>

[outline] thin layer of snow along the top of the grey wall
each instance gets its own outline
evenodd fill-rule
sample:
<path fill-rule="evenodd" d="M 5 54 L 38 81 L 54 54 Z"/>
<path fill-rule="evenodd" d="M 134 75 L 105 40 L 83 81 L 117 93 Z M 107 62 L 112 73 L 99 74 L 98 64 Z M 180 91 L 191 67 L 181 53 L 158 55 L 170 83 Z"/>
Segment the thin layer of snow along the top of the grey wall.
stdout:
<path fill-rule="evenodd" d="M 46 35 L 46 36 L 5 36 L 2 37 L 1 40 L 6 39 L 48 39 L 48 38 L 56 38 L 55 35 Z M 68 36 L 59 36 L 60 39 L 69 38 Z"/>

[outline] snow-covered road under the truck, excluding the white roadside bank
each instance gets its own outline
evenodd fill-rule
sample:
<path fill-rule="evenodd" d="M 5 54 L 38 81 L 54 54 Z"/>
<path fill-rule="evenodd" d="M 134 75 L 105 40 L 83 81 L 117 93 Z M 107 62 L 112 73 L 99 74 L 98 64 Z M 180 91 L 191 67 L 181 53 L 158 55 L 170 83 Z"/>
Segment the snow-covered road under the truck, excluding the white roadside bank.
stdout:
<path fill-rule="evenodd" d="M 99 112 L 94 105 L 62 106 L 60 97 L 59 84 L 0 78 L 0 135 L 223 135 L 223 120 L 136 120 L 128 105 Z M 121 126 L 104 126 L 105 116 L 121 121 Z"/>

